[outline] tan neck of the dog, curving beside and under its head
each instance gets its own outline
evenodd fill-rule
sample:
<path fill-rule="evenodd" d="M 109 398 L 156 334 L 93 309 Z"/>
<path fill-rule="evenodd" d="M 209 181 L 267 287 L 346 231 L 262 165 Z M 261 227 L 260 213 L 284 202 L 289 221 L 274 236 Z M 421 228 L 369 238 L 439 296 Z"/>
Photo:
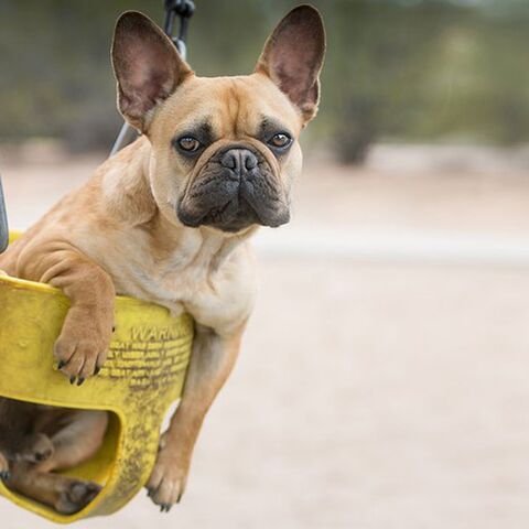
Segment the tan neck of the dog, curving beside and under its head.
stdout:
<path fill-rule="evenodd" d="M 184 226 L 174 206 L 159 206 L 150 185 L 151 145 L 140 137 L 109 159 L 100 169 L 107 210 L 127 229 L 149 234 L 151 255 L 156 259 L 182 257 L 182 263 L 217 270 L 257 229 L 227 235 L 222 231 Z"/>

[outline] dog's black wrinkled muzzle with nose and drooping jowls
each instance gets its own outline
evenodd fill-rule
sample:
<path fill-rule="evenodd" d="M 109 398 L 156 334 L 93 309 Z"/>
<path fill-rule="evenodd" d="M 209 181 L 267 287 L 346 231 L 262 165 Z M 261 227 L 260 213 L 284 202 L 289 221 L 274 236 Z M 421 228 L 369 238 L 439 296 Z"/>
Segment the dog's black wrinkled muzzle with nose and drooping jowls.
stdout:
<path fill-rule="evenodd" d="M 280 180 L 257 151 L 230 148 L 204 165 L 179 201 L 185 226 L 237 233 L 252 225 L 278 227 L 290 220 Z"/>

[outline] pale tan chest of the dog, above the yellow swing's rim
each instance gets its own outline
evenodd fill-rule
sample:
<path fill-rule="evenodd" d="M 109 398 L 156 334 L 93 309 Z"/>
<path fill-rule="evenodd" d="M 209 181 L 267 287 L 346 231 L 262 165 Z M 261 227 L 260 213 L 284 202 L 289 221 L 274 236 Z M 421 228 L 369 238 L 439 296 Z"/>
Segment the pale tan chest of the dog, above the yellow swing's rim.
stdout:
<path fill-rule="evenodd" d="M 231 332 L 249 316 L 255 278 L 246 246 L 224 258 L 222 248 L 199 240 L 184 240 L 163 255 L 152 251 L 147 240 L 138 242 L 106 244 L 106 251 L 98 252 L 97 260 L 112 277 L 118 293 L 159 303 L 174 315 L 187 312 L 220 334 Z"/>

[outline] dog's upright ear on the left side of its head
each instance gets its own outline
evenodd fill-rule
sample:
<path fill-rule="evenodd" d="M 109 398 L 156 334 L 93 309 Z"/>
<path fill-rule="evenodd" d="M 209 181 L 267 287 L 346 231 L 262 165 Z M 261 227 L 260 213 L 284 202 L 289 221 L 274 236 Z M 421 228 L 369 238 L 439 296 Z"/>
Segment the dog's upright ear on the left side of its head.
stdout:
<path fill-rule="evenodd" d="M 155 107 L 193 75 L 171 40 L 137 11 L 118 19 L 111 56 L 119 111 L 141 132 L 149 128 Z"/>

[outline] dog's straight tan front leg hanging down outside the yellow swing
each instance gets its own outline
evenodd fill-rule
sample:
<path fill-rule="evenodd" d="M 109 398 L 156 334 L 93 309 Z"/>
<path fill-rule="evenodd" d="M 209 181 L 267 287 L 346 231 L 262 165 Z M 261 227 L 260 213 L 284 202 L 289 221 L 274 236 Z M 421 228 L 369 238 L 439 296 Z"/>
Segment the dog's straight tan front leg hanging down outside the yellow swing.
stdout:
<path fill-rule="evenodd" d="M 162 436 L 158 460 L 147 485 L 162 510 L 182 497 L 191 456 L 204 417 L 227 379 L 240 346 L 244 326 L 228 337 L 197 326 L 182 400 Z"/>

